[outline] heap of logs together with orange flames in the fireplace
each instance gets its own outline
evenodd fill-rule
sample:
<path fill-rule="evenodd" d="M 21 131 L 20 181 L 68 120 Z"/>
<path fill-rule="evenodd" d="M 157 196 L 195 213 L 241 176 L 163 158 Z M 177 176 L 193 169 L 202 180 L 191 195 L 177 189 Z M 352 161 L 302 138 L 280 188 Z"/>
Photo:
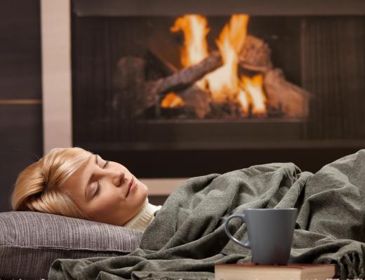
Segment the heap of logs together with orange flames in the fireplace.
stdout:
<path fill-rule="evenodd" d="M 214 44 L 208 44 L 211 30 L 206 17 L 176 18 L 170 31 L 183 34 L 180 63 L 173 63 L 152 39 L 149 71 L 155 69 L 154 63 L 165 69 L 154 81 L 145 79 L 145 60 L 121 58 L 117 84 L 121 91 L 132 88 L 140 95 L 135 115 L 153 107 L 145 114 L 149 119 L 307 118 L 310 93 L 273 67 L 270 46 L 247 34 L 248 20 L 248 15 L 232 15 L 218 38 L 211 40 Z M 124 81 L 129 72 L 145 86 L 135 83 L 133 88 Z"/>

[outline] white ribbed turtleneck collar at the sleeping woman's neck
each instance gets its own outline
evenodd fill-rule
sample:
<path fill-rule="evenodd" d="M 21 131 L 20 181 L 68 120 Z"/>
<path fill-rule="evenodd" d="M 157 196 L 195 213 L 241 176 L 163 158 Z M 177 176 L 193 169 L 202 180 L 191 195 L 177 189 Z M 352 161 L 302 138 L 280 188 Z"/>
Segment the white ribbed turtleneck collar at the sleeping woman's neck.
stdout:
<path fill-rule="evenodd" d="M 131 218 L 131 220 L 128 220 L 128 222 L 124 224 L 124 227 L 131 227 L 132 229 L 137 229 L 144 232 L 147 226 L 150 225 L 150 223 L 154 219 L 154 213 L 161 209 L 161 207 L 161 205 L 155 206 L 153 204 L 150 204 L 148 202 L 148 199 L 146 198 L 145 204 L 143 204 L 140 212 L 138 212 L 137 215 Z"/>

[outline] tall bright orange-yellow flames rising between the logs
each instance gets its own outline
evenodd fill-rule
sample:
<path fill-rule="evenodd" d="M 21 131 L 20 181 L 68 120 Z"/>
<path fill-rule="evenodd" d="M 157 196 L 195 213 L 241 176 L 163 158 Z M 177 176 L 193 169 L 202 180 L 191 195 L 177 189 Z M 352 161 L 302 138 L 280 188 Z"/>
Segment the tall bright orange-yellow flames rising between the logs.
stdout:
<path fill-rule="evenodd" d="M 210 94 L 215 102 L 237 102 L 242 115 L 266 112 L 266 97 L 263 91 L 263 76 L 253 78 L 239 76 L 239 53 L 244 46 L 248 15 L 232 15 L 230 22 L 223 27 L 215 41 L 223 60 L 223 65 L 206 74 L 197 86 Z M 181 49 L 183 67 L 196 65 L 208 56 L 206 36 L 209 32 L 208 22 L 201 15 L 184 15 L 175 20 L 171 32 L 182 31 L 184 45 Z"/>

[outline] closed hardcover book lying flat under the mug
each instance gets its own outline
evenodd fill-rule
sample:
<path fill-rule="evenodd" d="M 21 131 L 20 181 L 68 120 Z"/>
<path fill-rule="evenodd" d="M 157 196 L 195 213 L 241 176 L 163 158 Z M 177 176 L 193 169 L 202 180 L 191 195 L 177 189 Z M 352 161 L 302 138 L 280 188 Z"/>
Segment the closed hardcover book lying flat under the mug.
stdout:
<path fill-rule="evenodd" d="M 333 264 L 255 265 L 252 262 L 218 264 L 215 280 L 326 280 L 336 273 Z"/>

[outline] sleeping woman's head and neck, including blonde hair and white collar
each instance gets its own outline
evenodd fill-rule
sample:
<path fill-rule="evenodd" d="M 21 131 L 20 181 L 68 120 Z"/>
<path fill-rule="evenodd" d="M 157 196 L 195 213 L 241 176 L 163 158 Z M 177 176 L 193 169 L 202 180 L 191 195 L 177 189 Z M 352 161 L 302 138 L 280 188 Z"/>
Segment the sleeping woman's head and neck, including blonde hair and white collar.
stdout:
<path fill-rule="evenodd" d="M 15 182 L 15 211 L 37 211 L 144 231 L 161 206 L 148 202 L 145 184 L 113 161 L 79 147 L 55 148 Z"/>

